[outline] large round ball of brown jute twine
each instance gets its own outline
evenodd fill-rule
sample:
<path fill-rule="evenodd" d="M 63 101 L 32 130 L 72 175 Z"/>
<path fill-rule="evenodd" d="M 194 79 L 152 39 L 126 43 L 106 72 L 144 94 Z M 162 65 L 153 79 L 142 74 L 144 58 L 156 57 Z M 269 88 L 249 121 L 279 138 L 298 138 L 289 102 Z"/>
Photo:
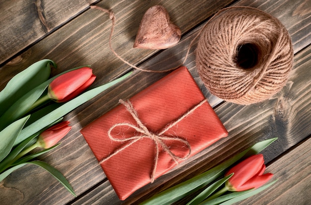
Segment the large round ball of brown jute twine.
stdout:
<path fill-rule="evenodd" d="M 215 14 L 202 29 L 196 49 L 197 70 L 210 92 L 243 105 L 280 91 L 292 64 L 293 46 L 282 23 L 245 6 Z"/>

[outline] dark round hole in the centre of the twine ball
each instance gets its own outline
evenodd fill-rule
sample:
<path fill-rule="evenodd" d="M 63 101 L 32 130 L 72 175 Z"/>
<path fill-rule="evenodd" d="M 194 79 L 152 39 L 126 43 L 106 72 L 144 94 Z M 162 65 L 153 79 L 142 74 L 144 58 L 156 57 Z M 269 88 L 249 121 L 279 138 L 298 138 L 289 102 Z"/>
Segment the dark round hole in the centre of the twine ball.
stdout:
<path fill-rule="evenodd" d="M 238 45 L 234 63 L 242 69 L 250 69 L 258 64 L 259 48 L 252 43 Z"/>

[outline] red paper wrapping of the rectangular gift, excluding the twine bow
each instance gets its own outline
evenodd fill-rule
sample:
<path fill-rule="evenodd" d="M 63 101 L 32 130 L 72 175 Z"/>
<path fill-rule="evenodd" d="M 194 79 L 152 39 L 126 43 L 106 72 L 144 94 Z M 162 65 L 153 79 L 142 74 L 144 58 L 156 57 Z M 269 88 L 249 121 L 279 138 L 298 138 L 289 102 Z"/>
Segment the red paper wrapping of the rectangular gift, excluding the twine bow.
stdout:
<path fill-rule="evenodd" d="M 202 101 L 204 101 L 202 105 L 163 134 L 187 140 L 191 145 L 190 156 L 220 138 L 227 137 L 228 132 L 186 67 L 174 70 L 130 99 L 141 122 L 153 133 L 159 133 Z M 137 122 L 124 105 L 117 106 L 81 130 L 98 161 L 130 143 L 130 141 L 113 141 L 107 136 L 109 129 L 119 123 L 137 126 Z M 140 135 L 127 126 L 116 127 L 112 134 L 117 138 Z M 176 140 L 164 142 L 170 151 L 179 157 L 185 157 L 189 153 L 188 147 L 182 142 Z M 151 182 L 155 150 L 156 143 L 150 138 L 143 137 L 101 163 L 121 200 L 125 200 L 133 192 Z M 174 166 L 176 163 L 171 156 L 159 146 L 155 179 Z"/>

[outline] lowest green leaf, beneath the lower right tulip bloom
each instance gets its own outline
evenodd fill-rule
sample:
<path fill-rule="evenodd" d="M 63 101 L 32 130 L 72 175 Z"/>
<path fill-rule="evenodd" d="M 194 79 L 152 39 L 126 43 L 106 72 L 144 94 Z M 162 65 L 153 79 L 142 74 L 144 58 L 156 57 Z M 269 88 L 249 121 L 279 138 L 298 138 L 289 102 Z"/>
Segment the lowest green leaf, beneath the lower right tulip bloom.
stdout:
<path fill-rule="evenodd" d="M 233 192 L 231 194 L 227 194 L 227 195 L 218 197 L 210 201 L 202 202 L 200 205 L 232 205 L 236 202 L 239 202 L 251 196 L 254 196 L 258 194 L 259 192 L 262 192 L 263 190 L 273 185 L 276 181 L 278 180 L 265 184 L 259 187 L 258 189 L 250 189 L 250 190 L 246 190 L 242 192 Z"/>

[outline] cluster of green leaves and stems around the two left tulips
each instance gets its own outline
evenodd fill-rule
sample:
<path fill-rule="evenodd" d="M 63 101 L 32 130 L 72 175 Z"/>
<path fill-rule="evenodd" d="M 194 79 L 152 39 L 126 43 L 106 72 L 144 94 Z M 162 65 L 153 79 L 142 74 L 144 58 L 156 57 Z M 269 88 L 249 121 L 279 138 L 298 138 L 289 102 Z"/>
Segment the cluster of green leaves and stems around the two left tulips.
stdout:
<path fill-rule="evenodd" d="M 51 66 L 56 68 L 56 64 L 47 59 L 34 63 L 16 74 L 0 92 L 0 181 L 16 169 L 26 164 L 34 164 L 47 170 L 76 196 L 61 172 L 45 162 L 32 161 L 59 144 L 39 152 L 28 153 L 38 147 L 37 137 L 42 132 L 60 122 L 64 115 L 81 104 L 122 81 L 131 72 L 105 85 L 86 91 L 66 103 L 42 106 L 42 102 L 50 100 L 45 95 L 46 90 L 56 77 L 74 69 L 88 67 L 73 68 L 49 78 Z"/>

